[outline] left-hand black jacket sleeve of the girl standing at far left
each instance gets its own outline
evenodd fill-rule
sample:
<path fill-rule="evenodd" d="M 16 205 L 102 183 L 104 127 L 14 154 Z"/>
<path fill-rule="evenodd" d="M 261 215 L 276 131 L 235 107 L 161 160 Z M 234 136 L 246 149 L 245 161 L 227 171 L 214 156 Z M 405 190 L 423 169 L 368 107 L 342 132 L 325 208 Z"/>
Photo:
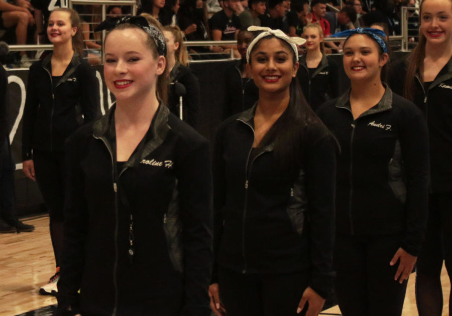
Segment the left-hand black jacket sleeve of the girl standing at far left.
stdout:
<path fill-rule="evenodd" d="M 36 122 L 36 115 L 38 113 L 38 91 L 36 88 L 36 80 L 38 74 L 36 65 L 30 67 L 27 81 L 27 96 L 25 99 L 24 115 L 22 116 L 22 160 L 33 159 L 32 142 L 33 129 Z"/>

